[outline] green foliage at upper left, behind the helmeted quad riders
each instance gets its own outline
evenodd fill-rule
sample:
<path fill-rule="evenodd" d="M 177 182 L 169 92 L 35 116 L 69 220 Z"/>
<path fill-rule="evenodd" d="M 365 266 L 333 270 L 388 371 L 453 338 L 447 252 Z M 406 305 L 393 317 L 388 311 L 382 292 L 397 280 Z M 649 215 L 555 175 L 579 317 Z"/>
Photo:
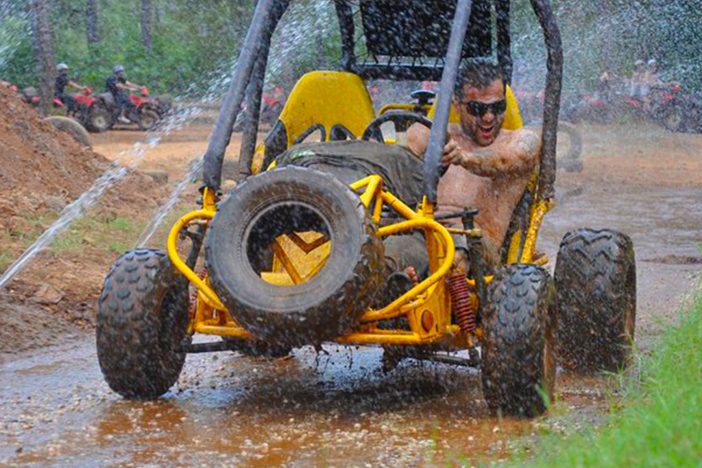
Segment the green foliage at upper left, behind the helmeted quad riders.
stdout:
<path fill-rule="evenodd" d="M 254 0 L 154 0 L 152 51 L 142 45 L 140 1 L 99 2 L 100 42 L 88 44 L 86 1 L 55 0 L 51 4 L 51 27 L 57 63 L 71 67 L 71 75 L 96 91 L 117 63 L 126 68 L 132 82 L 146 84 L 157 93 L 197 93 L 209 74 L 232 61 L 246 34 Z M 14 53 L 3 78 L 29 86 L 37 71 L 26 21 L 15 14 L 0 20 L 0 44 L 11 44 Z M 12 27 L 9 28 L 8 25 Z M 0 55 L 0 59 L 1 59 Z"/>

